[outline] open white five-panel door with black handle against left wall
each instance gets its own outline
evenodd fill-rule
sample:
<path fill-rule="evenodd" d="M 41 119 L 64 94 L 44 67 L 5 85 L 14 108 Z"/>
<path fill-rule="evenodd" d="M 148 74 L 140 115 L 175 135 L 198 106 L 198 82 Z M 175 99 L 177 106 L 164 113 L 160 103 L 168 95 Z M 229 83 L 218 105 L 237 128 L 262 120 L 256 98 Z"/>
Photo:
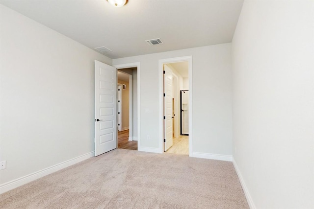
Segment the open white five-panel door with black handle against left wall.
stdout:
<path fill-rule="evenodd" d="M 117 148 L 117 71 L 95 60 L 95 156 Z"/>

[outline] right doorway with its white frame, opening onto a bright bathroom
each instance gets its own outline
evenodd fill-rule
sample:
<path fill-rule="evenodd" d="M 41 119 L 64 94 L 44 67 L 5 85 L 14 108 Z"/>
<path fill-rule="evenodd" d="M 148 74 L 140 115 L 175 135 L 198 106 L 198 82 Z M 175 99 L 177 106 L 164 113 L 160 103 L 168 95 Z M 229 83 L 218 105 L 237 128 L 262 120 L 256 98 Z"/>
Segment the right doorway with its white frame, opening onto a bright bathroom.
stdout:
<path fill-rule="evenodd" d="M 159 60 L 160 151 L 192 155 L 192 56 Z M 185 129 L 181 135 L 180 91 L 188 90 L 185 98 Z"/>

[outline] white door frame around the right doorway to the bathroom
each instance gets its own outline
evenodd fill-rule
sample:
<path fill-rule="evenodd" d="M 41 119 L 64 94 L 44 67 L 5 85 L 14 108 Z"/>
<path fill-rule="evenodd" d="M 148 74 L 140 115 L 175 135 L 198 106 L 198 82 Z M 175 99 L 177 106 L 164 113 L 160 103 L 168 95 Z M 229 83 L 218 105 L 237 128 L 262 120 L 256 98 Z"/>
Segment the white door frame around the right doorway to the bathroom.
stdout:
<path fill-rule="evenodd" d="M 176 62 L 188 61 L 188 87 L 189 87 L 189 121 L 188 121 L 188 153 L 192 156 L 193 153 L 193 108 L 192 108 L 192 56 L 175 57 L 169 59 L 161 59 L 158 61 L 158 81 L 159 81 L 159 153 L 163 153 L 163 65 Z"/>

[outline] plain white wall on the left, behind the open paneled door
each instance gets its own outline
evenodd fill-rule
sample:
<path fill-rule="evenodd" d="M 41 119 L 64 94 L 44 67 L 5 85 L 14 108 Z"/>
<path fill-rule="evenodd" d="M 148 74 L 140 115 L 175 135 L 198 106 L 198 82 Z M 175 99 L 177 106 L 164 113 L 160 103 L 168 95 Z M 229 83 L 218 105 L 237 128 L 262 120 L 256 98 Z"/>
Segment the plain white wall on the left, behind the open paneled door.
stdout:
<path fill-rule="evenodd" d="M 3 5 L 0 19 L 4 184 L 94 151 L 94 60 L 112 63 Z"/>

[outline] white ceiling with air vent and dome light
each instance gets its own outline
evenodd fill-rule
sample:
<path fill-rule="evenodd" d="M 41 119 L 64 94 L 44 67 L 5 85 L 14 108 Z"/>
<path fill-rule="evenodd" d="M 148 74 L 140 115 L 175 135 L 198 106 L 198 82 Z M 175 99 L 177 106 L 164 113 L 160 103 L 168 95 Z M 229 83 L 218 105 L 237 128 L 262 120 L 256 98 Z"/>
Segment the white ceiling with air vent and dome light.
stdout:
<path fill-rule="evenodd" d="M 0 0 L 0 3 L 112 59 L 230 43 L 243 0 Z M 160 38 L 161 45 L 145 40 Z"/>

